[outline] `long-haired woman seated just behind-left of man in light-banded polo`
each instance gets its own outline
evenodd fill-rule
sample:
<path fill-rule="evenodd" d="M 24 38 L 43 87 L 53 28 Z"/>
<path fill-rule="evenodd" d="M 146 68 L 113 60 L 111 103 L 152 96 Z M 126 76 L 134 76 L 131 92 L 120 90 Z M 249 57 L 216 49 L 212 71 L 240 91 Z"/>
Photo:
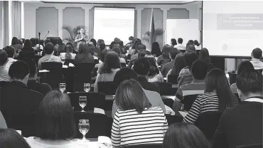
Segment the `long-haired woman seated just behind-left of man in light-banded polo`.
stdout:
<path fill-rule="evenodd" d="M 174 59 L 174 65 L 171 70 L 168 71 L 166 78 L 168 75 L 179 75 L 180 71 L 186 67 L 185 60 L 183 59 L 183 53 L 178 53 L 176 58 Z"/>

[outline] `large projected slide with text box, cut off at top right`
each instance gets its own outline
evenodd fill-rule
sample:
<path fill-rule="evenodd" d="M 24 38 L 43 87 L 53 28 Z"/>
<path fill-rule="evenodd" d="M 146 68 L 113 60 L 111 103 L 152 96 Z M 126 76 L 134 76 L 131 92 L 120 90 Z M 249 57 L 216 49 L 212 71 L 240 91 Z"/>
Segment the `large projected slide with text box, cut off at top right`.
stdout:
<path fill-rule="evenodd" d="M 263 49 L 263 1 L 203 1 L 203 47 L 213 56 Z"/>

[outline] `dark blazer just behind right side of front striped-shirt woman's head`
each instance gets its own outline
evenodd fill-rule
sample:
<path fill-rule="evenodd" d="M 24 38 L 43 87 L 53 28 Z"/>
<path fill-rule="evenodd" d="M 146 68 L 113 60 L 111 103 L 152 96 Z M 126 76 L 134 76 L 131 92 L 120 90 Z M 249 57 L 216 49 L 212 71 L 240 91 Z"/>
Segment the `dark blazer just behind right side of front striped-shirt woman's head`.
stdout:
<path fill-rule="evenodd" d="M 145 90 L 154 91 L 160 93 L 159 85 L 156 83 L 149 83 L 145 77 L 138 77 L 138 82 L 141 84 L 141 87 Z"/>

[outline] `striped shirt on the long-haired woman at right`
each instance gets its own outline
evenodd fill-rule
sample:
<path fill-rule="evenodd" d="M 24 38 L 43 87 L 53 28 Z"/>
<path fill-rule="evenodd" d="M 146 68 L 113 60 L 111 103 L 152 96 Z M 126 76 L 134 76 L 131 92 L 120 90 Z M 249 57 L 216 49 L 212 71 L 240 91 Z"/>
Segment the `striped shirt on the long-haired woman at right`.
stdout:
<path fill-rule="evenodd" d="M 196 120 L 198 120 L 200 113 L 213 112 L 218 110 L 219 100 L 216 94 L 204 93 L 202 95 L 198 95 L 195 102 L 193 102 L 190 111 L 188 112 L 186 117 L 184 117 L 183 122 L 195 124 Z"/>

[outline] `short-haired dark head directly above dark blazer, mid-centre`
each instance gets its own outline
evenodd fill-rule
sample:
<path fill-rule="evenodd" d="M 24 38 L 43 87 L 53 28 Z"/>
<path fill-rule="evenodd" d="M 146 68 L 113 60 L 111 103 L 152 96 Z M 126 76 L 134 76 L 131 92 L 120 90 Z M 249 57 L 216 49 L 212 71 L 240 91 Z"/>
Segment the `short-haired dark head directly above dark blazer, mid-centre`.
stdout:
<path fill-rule="evenodd" d="M 134 72 L 137 75 L 148 75 L 151 63 L 147 58 L 141 57 L 134 61 Z"/>

